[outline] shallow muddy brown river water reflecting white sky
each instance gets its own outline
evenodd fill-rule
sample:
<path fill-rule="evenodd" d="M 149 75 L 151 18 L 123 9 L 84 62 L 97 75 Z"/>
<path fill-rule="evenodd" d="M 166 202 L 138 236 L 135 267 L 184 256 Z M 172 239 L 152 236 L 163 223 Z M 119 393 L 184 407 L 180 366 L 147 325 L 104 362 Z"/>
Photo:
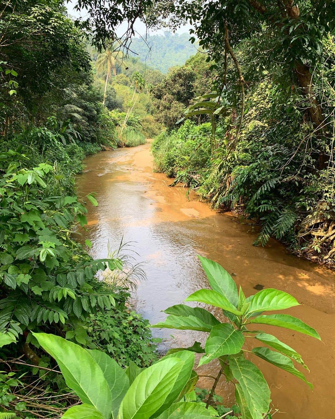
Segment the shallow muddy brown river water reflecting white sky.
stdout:
<path fill-rule="evenodd" d="M 133 242 L 144 261 L 147 281 L 140 283 L 134 297 L 137 310 L 150 322 L 162 321 L 170 305 L 180 304 L 192 292 L 208 287 L 196 255 L 219 262 L 241 284 L 245 295 L 254 294 L 256 284 L 278 288 L 294 295 L 300 306 L 286 313 L 317 329 L 322 342 L 286 329 L 264 327 L 302 355 L 309 366 L 307 380 L 314 391 L 295 376 L 253 357 L 271 386 L 273 406 L 287 419 L 333 418 L 335 416 L 335 274 L 321 266 L 286 253 L 271 240 L 266 248 L 252 246 L 255 232 L 232 215 L 218 214 L 186 189 L 169 187 L 171 179 L 152 173 L 149 144 L 103 152 L 85 159 L 78 176 L 78 193 L 98 194 L 99 206 L 89 207 L 88 233 L 95 258 L 107 255 L 124 241 Z M 219 316 L 219 312 L 216 313 Z M 204 341 L 204 333 L 153 329 L 164 339 L 161 348 L 186 347 Z M 216 375 L 217 365 L 199 369 Z M 303 370 L 304 372 L 305 370 Z M 198 385 L 210 387 L 201 378 Z M 217 393 L 224 402 L 234 401 L 231 384 L 220 381 Z M 276 416 L 277 417 L 277 416 Z"/>

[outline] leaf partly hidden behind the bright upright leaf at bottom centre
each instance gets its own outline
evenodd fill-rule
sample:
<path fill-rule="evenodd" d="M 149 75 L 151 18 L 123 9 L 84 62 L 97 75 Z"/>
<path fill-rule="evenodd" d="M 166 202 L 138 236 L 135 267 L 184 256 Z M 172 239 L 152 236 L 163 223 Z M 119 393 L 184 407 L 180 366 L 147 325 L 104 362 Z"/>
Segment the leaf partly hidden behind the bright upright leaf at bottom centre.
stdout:
<path fill-rule="evenodd" d="M 168 409 L 168 407 L 174 402 L 180 400 L 180 393 L 183 391 L 183 388 L 188 383 L 188 380 L 191 377 L 192 369 L 194 366 L 194 352 L 190 351 L 180 351 L 177 355 L 171 354 L 167 355 L 164 358 L 162 358 L 158 363 L 162 362 L 162 360 L 167 359 L 175 359 L 178 358 L 184 362 L 183 368 L 180 370 L 178 377 L 175 381 L 175 384 L 170 391 L 168 397 L 165 399 L 165 402 L 162 404 L 160 409 L 158 409 L 153 417 L 158 416 L 161 414 L 165 409 Z"/>

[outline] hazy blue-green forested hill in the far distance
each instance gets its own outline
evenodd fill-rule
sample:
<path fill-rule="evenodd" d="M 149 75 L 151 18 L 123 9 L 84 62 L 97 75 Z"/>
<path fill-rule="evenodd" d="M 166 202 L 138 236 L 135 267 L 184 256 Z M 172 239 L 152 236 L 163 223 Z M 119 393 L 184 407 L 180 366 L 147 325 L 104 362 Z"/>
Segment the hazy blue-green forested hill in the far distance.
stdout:
<path fill-rule="evenodd" d="M 183 65 L 185 61 L 196 54 L 196 45 L 189 41 L 189 34 L 152 35 L 134 38 L 131 49 L 134 56 L 139 57 L 151 68 L 167 73 L 170 67 Z M 149 46 L 148 46 L 149 45 Z M 138 54 L 138 55 L 137 55 Z"/>

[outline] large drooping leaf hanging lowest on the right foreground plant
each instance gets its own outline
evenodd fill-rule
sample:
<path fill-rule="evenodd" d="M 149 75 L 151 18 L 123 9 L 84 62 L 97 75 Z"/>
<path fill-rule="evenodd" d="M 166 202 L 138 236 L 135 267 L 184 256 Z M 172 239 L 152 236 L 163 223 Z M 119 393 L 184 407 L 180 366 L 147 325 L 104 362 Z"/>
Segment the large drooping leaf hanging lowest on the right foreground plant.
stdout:
<path fill-rule="evenodd" d="M 263 374 L 253 362 L 246 360 L 240 354 L 229 355 L 228 360 L 232 375 L 240 384 L 242 403 L 246 403 L 253 419 L 262 418 L 270 404 L 270 389 Z"/>

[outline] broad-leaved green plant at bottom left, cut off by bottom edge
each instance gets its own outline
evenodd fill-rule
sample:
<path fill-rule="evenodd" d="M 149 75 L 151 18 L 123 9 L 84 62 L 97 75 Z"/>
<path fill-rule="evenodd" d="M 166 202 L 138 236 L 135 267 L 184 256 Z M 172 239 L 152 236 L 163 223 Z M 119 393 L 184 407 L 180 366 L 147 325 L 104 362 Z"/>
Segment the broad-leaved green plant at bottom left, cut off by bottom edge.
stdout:
<path fill-rule="evenodd" d="M 194 389 L 194 353 L 179 351 L 148 368 L 131 362 L 123 370 L 105 352 L 84 349 L 59 336 L 34 333 L 41 347 L 57 361 L 67 385 L 83 404 L 72 406 L 64 419 L 148 419 L 217 416 L 204 403 L 183 401 Z"/>

